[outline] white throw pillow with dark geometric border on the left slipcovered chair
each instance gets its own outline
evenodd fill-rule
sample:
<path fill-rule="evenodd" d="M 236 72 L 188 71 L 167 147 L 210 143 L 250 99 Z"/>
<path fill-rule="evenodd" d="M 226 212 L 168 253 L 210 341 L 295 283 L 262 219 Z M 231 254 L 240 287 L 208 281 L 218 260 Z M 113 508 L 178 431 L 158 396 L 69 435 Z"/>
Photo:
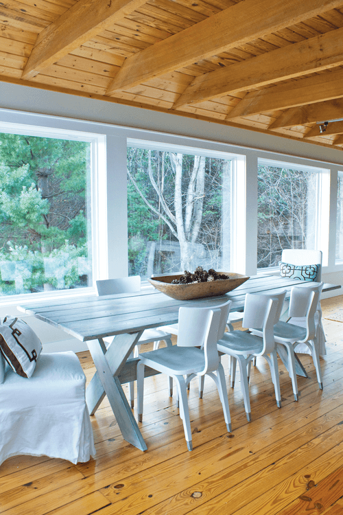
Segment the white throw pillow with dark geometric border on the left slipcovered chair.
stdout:
<path fill-rule="evenodd" d="M 26 322 L 9 316 L 3 319 L 0 325 L 0 351 L 16 374 L 31 377 L 41 350 L 40 339 Z"/>

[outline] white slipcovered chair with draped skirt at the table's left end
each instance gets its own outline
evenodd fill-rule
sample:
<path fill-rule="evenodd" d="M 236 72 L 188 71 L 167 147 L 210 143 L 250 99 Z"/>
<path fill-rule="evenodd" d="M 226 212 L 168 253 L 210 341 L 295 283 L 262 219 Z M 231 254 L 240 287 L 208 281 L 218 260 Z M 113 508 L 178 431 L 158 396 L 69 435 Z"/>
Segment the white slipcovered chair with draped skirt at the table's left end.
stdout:
<path fill-rule="evenodd" d="M 2 371 L 1 371 L 2 369 Z M 40 354 L 31 377 L 0 356 L 0 464 L 11 456 L 49 456 L 73 464 L 95 456 L 86 377 L 73 352 Z"/>

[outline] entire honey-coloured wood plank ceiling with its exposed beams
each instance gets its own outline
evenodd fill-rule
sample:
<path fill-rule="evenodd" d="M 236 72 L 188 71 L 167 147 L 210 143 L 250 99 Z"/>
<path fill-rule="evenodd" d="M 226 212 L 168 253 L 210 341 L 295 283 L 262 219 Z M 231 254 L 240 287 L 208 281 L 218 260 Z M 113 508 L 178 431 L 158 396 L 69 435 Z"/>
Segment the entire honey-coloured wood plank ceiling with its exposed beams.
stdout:
<path fill-rule="evenodd" d="M 1 81 L 343 148 L 343 0 L 0 0 L 0 30 Z"/>

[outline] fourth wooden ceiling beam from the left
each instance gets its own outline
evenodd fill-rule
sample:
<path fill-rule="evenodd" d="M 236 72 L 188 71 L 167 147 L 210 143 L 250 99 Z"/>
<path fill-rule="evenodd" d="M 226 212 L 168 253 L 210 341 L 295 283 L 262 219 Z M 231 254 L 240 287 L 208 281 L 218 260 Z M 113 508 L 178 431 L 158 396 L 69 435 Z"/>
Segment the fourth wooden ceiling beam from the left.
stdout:
<path fill-rule="evenodd" d="M 343 98 L 343 70 L 294 80 L 247 93 L 226 119 L 257 115 L 279 109 Z"/>

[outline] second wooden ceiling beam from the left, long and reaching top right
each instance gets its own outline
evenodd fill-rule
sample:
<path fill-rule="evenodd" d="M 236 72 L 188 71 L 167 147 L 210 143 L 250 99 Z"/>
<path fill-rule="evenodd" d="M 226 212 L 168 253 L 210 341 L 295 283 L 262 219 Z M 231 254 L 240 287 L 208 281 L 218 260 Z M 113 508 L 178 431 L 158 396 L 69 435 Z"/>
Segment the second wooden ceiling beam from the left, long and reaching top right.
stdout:
<path fill-rule="evenodd" d="M 342 6 L 342 0 L 244 0 L 126 59 L 107 95 Z"/>

